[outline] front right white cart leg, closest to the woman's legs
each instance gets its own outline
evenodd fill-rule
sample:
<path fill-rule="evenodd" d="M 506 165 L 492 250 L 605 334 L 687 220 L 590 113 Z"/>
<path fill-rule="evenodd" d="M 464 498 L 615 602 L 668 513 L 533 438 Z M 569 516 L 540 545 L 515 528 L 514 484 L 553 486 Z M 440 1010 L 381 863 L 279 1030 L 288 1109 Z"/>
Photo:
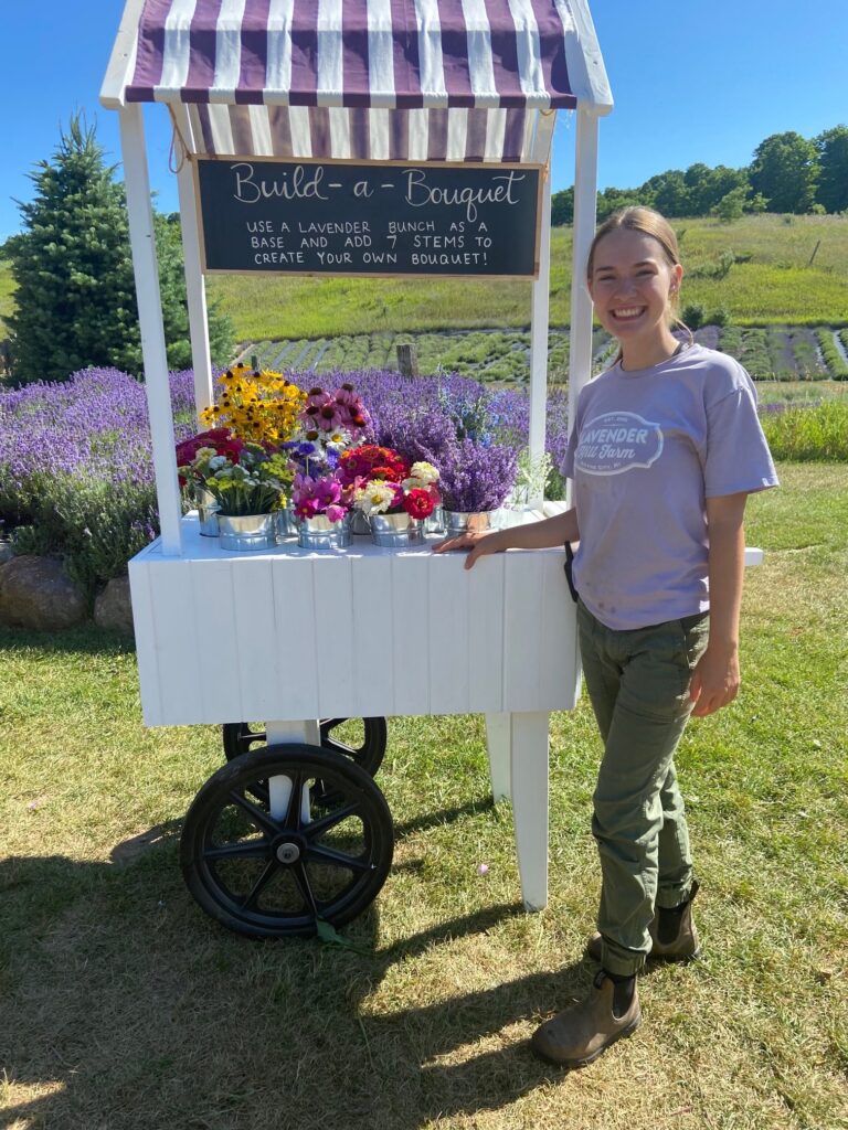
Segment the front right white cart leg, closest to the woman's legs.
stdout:
<path fill-rule="evenodd" d="M 547 905 L 547 714 L 511 714 L 512 815 L 528 911 Z"/>

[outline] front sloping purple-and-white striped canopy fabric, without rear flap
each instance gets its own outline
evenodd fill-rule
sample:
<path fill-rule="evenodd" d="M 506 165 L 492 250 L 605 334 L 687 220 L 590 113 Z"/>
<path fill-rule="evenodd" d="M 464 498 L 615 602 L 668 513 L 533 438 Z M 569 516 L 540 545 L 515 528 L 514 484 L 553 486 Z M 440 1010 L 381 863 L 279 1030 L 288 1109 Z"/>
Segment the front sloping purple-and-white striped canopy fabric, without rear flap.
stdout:
<path fill-rule="evenodd" d="M 129 102 L 573 108 L 569 0 L 146 0 Z"/>

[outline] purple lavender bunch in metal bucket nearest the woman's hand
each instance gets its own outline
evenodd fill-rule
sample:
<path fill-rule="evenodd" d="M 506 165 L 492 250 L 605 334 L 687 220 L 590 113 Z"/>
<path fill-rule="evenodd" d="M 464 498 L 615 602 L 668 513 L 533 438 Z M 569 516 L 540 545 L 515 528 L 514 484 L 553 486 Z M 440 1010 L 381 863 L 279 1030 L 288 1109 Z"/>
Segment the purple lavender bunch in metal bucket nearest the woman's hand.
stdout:
<path fill-rule="evenodd" d="M 441 490 L 448 533 L 491 528 L 492 512 L 516 481 L 518 452 L 503 444 L 457 440 L 442 454 Z"/>

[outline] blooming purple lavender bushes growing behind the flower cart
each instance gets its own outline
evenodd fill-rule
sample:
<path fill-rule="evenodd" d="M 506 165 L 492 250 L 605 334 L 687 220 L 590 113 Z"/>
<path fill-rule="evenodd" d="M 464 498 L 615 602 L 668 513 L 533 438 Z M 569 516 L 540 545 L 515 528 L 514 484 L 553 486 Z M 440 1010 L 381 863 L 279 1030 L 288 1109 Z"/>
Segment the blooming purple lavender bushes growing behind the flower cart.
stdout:
<path fill-rule="evenodd" d="M 450 433 L 485 450 L 527 444 L 528 397 L 468 377 L 335 371 L 287 374 L 301 386 L 353 383 L 372 417 L 370 438 L 417 451 L 440 450 Z M 193 374 L 171 374 L 178 442 L 197 427 Z M 552 497 L 563 490 L 559 468 L 568 441 L 568 397 L 548 398 L 547 451 Z M 67 382 L 0 389 L 0 533 L 16 554 L 59 555 L 66 571 L 93 594 L 158 533 L 144 385 L 118 370 L 89 368 Z"/>

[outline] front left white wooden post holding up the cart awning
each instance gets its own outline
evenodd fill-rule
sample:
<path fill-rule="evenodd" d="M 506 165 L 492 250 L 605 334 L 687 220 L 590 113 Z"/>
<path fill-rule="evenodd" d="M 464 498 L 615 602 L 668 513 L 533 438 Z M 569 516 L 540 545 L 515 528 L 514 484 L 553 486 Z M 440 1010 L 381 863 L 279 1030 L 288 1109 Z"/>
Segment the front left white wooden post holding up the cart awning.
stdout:
<path fill-rule="evenodd" d="M 126 105 L 119 114 L 121 153 L 127 185 L 127 211 L 130 224 L 132 268 L 136 275 L 138 321 L 141 329 L 141 355 L 145 364 L 147 408 L 150 416 L 153 466 L 159 504 L 162 549 L 168 556 L 182 555 L 180 486 L 174 452 L 174 420 L 171 414 L 171 388 L 167 377 L 165 330 L 162 322 L 159 272 L 150 208 L 150 182 L 147 175 L 145 128 L 141 107 Z"/>

